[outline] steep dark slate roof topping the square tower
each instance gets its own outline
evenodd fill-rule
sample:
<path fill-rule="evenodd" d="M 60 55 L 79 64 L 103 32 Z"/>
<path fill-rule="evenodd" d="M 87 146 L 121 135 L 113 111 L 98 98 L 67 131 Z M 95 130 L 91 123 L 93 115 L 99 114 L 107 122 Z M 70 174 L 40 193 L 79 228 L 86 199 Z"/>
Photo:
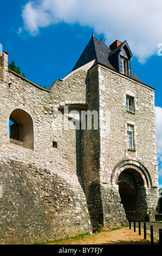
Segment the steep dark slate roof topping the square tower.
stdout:
<path fill-rule="evenodd" d="M 120 48 L 124 45 L 127 45 L 127 42 L 124 41 L 122 42 L 121 45 L 119 45 L 114 51 L 111 51 L 105 44 L 103 41 L 100 41 L 99 39 L 95 38 L 94 35 L 92 34 L 92 38 L 90 39 L 90 41 L 88 42 L 85 50 L 82 52 L 79 60 L 77 60 L 74 68 L 72 71 L 80 68 L 81 66 L 91 62 L 92 60 L 95 59 L 95 63 L 99 63 L 101 65 L 106 66 L 107 68 L 113 69 L 114 71 L 116 71 L 113 67 L 113 65 L 109 62 L 108 60 L 108 56 L 111 56 L 114 52 L 120 50 Z M 128 45 L 127 45 L 128 47 Z M 128 47 L 129 49 L 129 47 Z M 129 50 L 130 51 L 130 50 Z M 131 51 L 130 51 L 131 53 Z M 132 53 L 131 53 L 131 57 L 132 57 Z M 139 82 L 142 82 L 132 71 L 131 71 L 131 77 L 134 80 L 137 80 Z"/>

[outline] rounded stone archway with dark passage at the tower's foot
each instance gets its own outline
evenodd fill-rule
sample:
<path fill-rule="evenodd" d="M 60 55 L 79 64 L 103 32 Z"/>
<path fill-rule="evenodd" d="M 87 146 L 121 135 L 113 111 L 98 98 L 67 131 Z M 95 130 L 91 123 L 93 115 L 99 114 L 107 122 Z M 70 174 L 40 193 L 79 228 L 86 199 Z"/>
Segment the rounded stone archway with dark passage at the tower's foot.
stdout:
<path fill-rule="evenodd" d="M 118 188 L 127 220 L 148 221 L 147 190 L 152 182 L 146 167 L 134 160 L 120 162 L 113 170 L 112 184 Z"/>

